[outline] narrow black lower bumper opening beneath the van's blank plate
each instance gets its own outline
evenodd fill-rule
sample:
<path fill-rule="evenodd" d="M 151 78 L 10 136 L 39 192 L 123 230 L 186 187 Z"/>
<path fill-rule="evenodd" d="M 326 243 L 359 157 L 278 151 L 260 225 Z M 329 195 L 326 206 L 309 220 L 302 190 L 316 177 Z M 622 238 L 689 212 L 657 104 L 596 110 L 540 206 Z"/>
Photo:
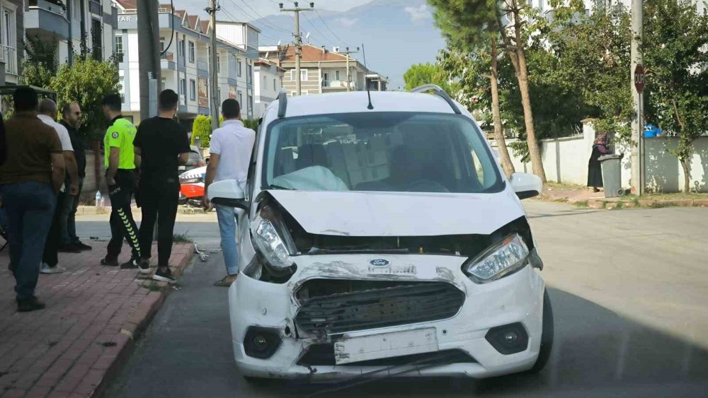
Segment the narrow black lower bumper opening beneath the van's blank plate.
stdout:
<path fill-rule="evenodd" d="M 392 356 L 389 358 L 370 359 L 352 363 L 342 363 L 337 366 L 395 366 L 406 365 L 407 363 L 418 363 L 426 361 L 428 358 L 442 358 L 445 363 L 476 363 L 469 353 L 462 350 L 443 350 L 430 353 L 416 353 L 403 356 Z M 309 346 L 307 352 L 297 361 L 302 366 L 334 366 L 334 344 L 314 344 Z"/>

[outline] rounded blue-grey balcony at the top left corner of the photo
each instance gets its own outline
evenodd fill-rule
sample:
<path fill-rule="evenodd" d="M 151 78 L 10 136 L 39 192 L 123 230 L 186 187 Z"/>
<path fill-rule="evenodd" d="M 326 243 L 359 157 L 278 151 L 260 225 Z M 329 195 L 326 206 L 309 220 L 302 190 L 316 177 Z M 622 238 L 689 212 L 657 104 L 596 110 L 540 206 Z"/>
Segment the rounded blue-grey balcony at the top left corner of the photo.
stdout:
<path fill-rule="evenodd" d="M 65 6 L 58 0 L 28 0 L 25 30 L 30 35 L 69 37 L 69 20 Z"/>

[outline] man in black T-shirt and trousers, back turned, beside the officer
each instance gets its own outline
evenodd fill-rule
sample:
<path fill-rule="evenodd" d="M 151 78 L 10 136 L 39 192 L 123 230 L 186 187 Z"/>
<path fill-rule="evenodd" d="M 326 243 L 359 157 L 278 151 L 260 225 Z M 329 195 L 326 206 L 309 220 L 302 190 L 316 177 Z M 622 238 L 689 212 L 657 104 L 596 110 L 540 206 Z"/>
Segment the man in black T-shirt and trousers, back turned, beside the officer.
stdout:
<path fill-rule="evenodd" d="M 187 130 L 173 117 L 179 97 L 173 90 L 164 90 L 159 97 L 159 114 L 144 120 L 133 141 L 135 154 L 142 158 L 140 165 L 140 201 L 142 222 L 139 242 L 140 272 L 150 271 L 152 233 L 157 220 L 157 265 L 153 279 L 174 283 L 169 269 L 172 253 L 172 233 L 177 216 L 179 197 L 178 167 L 189 159 Z"/>

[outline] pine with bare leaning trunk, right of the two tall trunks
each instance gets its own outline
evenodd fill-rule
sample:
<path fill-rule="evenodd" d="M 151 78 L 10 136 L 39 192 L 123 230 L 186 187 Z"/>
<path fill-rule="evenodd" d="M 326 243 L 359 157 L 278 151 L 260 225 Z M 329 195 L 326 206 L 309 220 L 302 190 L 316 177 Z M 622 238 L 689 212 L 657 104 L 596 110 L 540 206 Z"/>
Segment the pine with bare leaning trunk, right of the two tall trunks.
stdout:
<path fill-rule="evenodd" d="M 575 0 L 573 0 L 575 1 Z M 435 8 L 435 21 L 446 37 L 458 42 L 486 42 L 489 33 L 498 33 L 500 49 L 513 65 L 523 105 L 527 145 L 533 172 L 546 182 L 541 151 L 536 138 L 529 88 L 525 48 L 526 13 L 529 6 L 522 0 L 428 0 Z"/>

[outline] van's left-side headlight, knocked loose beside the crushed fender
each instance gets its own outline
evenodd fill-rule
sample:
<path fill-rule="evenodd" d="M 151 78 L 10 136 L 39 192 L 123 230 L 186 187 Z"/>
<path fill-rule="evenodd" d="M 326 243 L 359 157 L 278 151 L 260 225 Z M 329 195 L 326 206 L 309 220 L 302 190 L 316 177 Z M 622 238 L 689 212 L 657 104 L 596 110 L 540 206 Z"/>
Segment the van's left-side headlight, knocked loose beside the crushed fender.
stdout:
<path fill-rule="evenodd" d="M 263 256 L 263 261 L 268 271 L 274 276 L 287 276 L 293 273 L 295 262 L 290 258 L 290 248 L 293 247 L 291 239 L 284 230 L 280 218 L 273 216 L 272 211 L 266 206 L 261 209 L 253 221 L 253 243 Z M 278 231 L 283 231 L 282 237 Z M 284 239 L 285 238 L 285 239 Z"/>

